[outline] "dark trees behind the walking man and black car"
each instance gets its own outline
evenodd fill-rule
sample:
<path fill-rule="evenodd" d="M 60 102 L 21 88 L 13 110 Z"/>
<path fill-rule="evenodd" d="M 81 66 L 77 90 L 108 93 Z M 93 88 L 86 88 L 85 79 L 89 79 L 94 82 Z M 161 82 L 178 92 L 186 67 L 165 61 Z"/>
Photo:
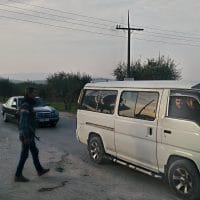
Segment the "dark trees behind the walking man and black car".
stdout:
<path fill-rule="evenodd" d="M 10 96 L 23 96 L 25 88 L 32 86 L 46 102 L 60 102 L 64 104 L 65 110 L 68 110 L 76 104 L 81 89 L 91 80 L 91 76 L 87 74 L 65 72 L 50 75 L 44 84 L 31 81 L 14 83 L 9 79 L 0 79 L 0 97 L 4 102 Z"/>

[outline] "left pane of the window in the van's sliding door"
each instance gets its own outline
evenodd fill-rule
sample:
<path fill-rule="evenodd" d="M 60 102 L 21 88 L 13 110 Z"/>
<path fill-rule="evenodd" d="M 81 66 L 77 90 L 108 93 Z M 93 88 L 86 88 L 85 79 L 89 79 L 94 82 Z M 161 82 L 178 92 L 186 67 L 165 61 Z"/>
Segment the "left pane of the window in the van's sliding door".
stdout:
<path fill-rule="evenodd" d="M 138 92 L 127 91 L 122 93 L 118 112 L 120 116 L 134 117 L 137 96 Z"/>

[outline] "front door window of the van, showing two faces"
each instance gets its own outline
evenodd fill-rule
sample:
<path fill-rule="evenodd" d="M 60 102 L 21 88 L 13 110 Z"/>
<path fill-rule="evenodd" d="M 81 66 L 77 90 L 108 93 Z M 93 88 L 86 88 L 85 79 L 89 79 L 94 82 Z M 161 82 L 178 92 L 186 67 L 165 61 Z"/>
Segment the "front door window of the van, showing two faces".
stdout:
<path fill-rule="evenodd" d="M 200 91 L 171 90 L 168 116 L 200 125 Z"/>

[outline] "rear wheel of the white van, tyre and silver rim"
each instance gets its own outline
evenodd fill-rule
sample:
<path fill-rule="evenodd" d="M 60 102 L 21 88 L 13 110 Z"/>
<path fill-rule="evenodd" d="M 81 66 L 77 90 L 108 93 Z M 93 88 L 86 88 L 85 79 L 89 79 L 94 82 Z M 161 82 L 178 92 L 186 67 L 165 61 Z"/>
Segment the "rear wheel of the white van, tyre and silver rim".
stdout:
<path fill-rule="evenodd" d="M 90 158 L 97 164 L 103 163 L 105 159 L 105 150 L 102 140 L 99 136 L 92 136 L 88 142 L 88 151 Z"/>

